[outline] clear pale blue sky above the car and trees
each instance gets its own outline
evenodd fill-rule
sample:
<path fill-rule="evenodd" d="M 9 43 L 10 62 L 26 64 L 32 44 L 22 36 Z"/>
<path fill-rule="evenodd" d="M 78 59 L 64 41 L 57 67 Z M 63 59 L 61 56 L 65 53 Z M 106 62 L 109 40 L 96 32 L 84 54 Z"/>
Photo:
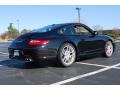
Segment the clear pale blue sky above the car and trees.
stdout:
<path fill-rule="evenodd" d="M 120 6 L 0 6 L 0 34 L 7 31 L 9 23 L 19 29 L 37 29 L 50 24 L 76 22 L 81 8 L 81 22 L 93 28 L 96 25 L 104 29 L 120 28 Z"/>

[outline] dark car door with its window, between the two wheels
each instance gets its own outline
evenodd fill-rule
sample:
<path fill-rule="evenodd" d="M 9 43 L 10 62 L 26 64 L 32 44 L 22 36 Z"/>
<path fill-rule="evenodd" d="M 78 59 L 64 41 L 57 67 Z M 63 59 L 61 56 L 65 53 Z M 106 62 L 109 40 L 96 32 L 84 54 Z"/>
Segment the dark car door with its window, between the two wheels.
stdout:
<path fill-rule="evenodd" d="M 101 49 L 103 41 L 91 29 L 82 25 L 76 25 L 74 29 L 79 40 L 78 48 L 82 54 L 97 52 Z"/>

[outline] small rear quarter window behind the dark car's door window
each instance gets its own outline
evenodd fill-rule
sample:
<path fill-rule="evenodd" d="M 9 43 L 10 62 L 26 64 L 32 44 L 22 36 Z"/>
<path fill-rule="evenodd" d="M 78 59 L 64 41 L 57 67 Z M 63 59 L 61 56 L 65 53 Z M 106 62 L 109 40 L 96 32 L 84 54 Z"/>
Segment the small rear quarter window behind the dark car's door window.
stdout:
<path fill-rule="evenodd" d="M 58 33 L 63 35 L 74 35 L 75 31 L 74 31 L 74 28 L 72 28 L 71 26 L 65 26 L 60 28 L 58 30 Z"/>

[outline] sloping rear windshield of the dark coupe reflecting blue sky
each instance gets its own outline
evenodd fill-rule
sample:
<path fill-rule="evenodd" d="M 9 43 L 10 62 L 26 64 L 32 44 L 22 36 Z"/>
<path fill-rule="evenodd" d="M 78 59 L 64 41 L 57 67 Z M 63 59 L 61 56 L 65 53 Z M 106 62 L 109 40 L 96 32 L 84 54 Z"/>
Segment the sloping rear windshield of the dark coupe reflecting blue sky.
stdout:
<path fill-rule="evenodd" d="M 54 25 L 48 25 L 48 26 L 45 26 L 45 27 L 40 28 L 40 29 L 35 29 L 35 30 L 31 31 L 31 32 L 40 32 L 40 33 L 49 32 L 49 31 L 57 28 L 58 26 L 59 25 L 55 25 L 55 24 Z"/>

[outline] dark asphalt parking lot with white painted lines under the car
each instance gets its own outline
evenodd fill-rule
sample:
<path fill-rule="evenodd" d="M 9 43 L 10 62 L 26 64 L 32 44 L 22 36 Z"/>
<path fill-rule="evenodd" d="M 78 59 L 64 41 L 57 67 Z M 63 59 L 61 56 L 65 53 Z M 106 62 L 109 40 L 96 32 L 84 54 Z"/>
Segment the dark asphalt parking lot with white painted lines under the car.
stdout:
<path fill-rule="evenodd" d="M 0 43 L 0 84 L 5 85 L 119 85 L 120 43 L 111 58 L 90 57 L 71 67 L 55 65 L 55 60 L 29 63 L 8 58 L 10 43 Z"/>

